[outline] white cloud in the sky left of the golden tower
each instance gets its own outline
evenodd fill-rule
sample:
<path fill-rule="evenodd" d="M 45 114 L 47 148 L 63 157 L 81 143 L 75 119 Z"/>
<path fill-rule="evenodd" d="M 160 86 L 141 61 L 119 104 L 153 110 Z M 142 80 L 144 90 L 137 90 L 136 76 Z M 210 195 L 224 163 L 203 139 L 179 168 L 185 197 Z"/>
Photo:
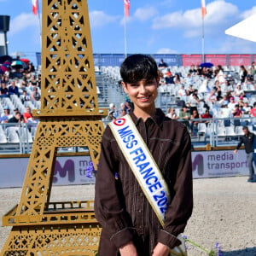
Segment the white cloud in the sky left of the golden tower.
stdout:
<path fill-rule="evenodd" d="M 10 20 L 9 35 L 12 36 L 18 32 L 24 31 L 27 27 L 38 26 L 38 16 L 33 14 L 20 14 L 15 19 Z"/>

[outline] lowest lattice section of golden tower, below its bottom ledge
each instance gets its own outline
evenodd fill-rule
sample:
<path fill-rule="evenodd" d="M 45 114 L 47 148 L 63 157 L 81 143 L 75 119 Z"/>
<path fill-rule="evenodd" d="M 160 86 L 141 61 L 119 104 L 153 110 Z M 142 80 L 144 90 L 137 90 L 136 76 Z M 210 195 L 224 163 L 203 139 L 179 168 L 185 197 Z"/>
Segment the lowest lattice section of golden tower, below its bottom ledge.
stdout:
<path fill-rule="evenodd" d="M 98 224 L 15 226 L 3 246 L 3 256 L 96 256 Z"/>

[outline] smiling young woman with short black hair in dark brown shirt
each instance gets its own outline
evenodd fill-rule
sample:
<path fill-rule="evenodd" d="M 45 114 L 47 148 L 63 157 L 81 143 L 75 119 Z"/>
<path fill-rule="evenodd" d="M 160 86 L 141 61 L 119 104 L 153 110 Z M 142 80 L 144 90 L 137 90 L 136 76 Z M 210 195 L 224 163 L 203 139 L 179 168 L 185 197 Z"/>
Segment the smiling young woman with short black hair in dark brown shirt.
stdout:
<path fill-rule="evenodd" d="M 152 57 L 131 55 L 123 62 L 120 73 L 125 93 L 134 104 L 129 113 L 131 121 L 170 191 L 171 200 L 166 208 L 164 226 L 160 224 L 108 125 L 102 136 L 96 174 L 95 212 L 102 224 L 99 256 L 167 256 L 170 248 L 180 244 L 177 235 L 183 232 L 192 212 L 189 132 L 183 124 L 167 118 L 162 110 L 155 108 L 159 84 L 157 69 Z M 137 144 L 132 135 L 124 139 L 129 144 L 128 148 Z M 141 156 L 137 157 L 139 165 Z M 149 183 L 155 185 L 153 177 Z"/>

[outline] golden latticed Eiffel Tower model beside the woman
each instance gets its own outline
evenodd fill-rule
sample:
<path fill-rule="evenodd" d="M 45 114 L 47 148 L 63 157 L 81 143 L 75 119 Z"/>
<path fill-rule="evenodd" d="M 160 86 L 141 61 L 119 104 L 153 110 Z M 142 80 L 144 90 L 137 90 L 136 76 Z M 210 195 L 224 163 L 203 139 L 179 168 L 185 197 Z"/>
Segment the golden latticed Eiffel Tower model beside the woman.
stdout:
<path fill-rule="evenodd" d="M 96 169 L 106 111 L 98 108 L 86 0 L 45 0 L 40 122 L 1 255 L 96 255 L 93 201 L 49 202 L 57 148 L 88 147 Z"/>

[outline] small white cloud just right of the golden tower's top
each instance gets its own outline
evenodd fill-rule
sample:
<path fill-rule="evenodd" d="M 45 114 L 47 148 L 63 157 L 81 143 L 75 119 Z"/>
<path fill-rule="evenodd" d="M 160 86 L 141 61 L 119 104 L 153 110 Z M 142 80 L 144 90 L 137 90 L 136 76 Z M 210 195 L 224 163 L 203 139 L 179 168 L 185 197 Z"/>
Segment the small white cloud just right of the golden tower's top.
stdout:
<path fill-rule="evenodd" d="M 111 23 L 116 22 L 119 19 L 117 16 L 106 15 L 102 11 L 92 11 L 90 12 L 90 27 L 96 28 L 101 26 L 106 26 Z"/>

